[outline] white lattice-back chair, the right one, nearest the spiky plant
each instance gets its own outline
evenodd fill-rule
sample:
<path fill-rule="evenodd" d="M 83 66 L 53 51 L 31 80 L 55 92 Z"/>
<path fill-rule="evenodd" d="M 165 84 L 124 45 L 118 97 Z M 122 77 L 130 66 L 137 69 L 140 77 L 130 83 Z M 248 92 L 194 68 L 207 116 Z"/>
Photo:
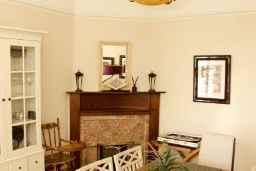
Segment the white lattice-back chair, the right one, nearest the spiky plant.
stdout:
<path fill-rule="evenodd" d="M 143 166 L 141 146 L 124 150 L 114 155 L 114 162 L 117 171 L 134 171 Z"/>

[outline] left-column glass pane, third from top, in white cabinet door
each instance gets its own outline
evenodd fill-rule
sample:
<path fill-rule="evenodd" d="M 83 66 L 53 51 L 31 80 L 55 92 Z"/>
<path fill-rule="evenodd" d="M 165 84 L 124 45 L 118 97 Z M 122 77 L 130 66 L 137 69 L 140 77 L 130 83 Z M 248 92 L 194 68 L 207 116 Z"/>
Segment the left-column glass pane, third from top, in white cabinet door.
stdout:
<path fill-rule="evenodd" d="M 12 99 L 12 124 L 24 121 L 23 99 Z"/>

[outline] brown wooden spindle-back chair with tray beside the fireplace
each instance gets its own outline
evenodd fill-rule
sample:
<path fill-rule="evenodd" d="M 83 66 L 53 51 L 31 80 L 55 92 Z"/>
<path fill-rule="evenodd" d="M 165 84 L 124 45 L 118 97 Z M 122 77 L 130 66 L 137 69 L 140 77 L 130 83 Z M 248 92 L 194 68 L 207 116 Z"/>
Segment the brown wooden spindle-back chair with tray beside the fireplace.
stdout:
<path fill-rule="evenodd" d="M 51 150 L 51 154 L 47 154 L 44 157 L 46 170 L 74 169 L 76 156 L 73 155 L 73 152 L 85 149 L 86 143 L 61 139 L 59 118 L 57 118 L 57 122 L 42 124 L 41 128 L 44 143 L 42 146 L 46 148 L 46 151 Z M 67 164 L 68 168 L 62 169 L 64 164 Z"/>

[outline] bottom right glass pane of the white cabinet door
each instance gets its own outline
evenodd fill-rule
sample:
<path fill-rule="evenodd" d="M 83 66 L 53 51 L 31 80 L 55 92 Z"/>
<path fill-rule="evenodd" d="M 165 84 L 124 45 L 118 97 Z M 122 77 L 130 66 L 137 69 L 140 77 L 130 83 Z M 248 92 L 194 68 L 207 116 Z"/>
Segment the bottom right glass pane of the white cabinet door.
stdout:
<path fill-rule="evenodd" d="M 36 137 L 36 122 L 26 124 L 26 146 L 36 145 Z"/>

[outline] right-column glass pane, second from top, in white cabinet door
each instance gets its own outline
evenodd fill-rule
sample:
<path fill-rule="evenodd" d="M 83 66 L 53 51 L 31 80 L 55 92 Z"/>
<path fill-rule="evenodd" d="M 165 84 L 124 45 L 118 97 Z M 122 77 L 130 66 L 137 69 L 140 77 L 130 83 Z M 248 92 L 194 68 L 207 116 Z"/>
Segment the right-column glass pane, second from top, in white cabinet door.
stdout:
<path fill-rule="evenodd" d="M 36 95 L 35 73 L 25 73 L 25 95 Z"/>

